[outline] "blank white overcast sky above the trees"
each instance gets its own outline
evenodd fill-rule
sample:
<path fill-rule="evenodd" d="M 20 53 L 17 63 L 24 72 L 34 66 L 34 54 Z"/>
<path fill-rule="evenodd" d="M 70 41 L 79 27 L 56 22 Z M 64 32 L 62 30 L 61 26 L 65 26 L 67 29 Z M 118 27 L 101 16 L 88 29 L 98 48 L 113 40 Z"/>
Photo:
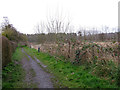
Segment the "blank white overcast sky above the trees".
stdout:
<path fill-rule="evenodd" d="M 2 17 L 22 33 L 34 33 L 35 26 L 55 16 L 56 12 L 70 20 L 77 30 L 81 27 L 118 26 L 119 0 L 0 0 Z"/>

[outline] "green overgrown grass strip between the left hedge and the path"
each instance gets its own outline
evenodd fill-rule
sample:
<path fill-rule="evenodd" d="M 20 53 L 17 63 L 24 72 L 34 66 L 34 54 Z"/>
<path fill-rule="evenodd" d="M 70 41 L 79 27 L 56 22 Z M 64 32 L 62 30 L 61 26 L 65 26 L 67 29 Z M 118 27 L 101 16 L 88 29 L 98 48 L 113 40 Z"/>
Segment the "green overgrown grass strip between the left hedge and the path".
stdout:
<path fill-rule="evenodd" d="M 2 88 L 25 88 L 31 87 L 24 83 L 25 71 L 19 63 L 24 54 L 21 48 L 17 48 L 12 56 L 12 62 L 2 70 Z"/>

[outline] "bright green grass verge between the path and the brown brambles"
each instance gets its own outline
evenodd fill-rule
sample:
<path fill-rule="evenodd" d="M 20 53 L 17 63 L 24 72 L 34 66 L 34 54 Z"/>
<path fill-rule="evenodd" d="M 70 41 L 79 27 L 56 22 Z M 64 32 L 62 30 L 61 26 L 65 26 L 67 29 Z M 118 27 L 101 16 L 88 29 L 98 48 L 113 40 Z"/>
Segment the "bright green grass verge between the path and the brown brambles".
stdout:
<path fill-rule="evenodd" d="M 116 88 L 116 83 L 101 79 L 91 74 L 90 69 L 86 69 L 84 65 L 75 66 L 70 62 L 56 60 L 48 53 L 38 53 L 35 49 L 24 47 L 24 50 L 31 55 L 35 55 L 43 64 L 47 65 L 47 69 L 53 73 L 55 87 L 64 88 Z"/>

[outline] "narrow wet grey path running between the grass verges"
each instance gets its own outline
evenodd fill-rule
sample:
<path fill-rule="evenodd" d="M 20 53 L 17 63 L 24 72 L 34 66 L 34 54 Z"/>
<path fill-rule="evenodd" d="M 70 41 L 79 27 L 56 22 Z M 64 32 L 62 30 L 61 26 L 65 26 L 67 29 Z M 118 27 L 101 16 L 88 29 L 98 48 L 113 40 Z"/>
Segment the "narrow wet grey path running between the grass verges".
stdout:
<path fill-rule="evenodd" d="M 27 58 L 22 59 L 22 65 L 26 72 L 25 81 L 36 84 L 38 88 L 53 88 L 53 84 L 51 82 L 52 76 L 40 67 L 36 61 L 38 59 L 35 56 L 35 59 L 31 58 L 23 48 L 22 52 L 27 56 Z"/>

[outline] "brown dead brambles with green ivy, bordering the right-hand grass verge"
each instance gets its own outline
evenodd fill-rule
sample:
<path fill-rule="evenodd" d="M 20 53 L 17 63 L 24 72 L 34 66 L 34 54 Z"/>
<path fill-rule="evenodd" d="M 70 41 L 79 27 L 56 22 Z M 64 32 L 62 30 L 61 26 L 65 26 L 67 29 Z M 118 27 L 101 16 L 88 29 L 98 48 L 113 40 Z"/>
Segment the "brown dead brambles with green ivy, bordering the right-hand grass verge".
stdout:
<path fill-rule="evenodd" d="M 59 57 L 62 56 L 64 61 L 74 65 L 85 65 L 86 69 L 91 68 L 92 75 L 106 80 L 110 76 L 113 81 L 117 77 L 118 42 L 76 42 L 70 46 L 69 43 L 33 45 L 35 49 L 38 47 L 41 52 L 49 53 L 57 60 L 61 60 Z"/>

